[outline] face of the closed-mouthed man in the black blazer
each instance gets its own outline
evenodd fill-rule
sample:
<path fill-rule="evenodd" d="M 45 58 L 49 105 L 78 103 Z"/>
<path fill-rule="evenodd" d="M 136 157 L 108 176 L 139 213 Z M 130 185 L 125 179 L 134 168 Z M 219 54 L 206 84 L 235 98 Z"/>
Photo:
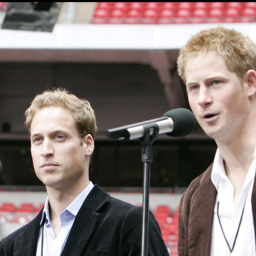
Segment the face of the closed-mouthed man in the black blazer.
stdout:
<path fill-rule="evenodd" d="M 90 135 L 81 139 L 70 111 L 40 109 L 31 123 L 30 139 L 35 173 L 46 186 L 61 190 L 89 182 L 93 139 Z"/>

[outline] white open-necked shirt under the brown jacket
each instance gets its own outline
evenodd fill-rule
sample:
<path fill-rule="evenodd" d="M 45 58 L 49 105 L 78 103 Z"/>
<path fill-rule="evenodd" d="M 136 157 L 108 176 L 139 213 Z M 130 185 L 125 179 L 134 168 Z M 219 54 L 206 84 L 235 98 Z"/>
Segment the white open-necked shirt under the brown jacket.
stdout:
<path fill-rule="evenodd" d="M 253 156 L 254 159 L 246 175 L 237 205 L 235 205 L 233 202 L 234 188 L 226 176 L 223 158 L 219 149 L 217 149 L 211 174 L 211 180 L 218 191 L 212 226 L 211 256 L 256 256 L 251 203 L 252 188 L 256 171 L 256 150 L 254 151 Z M 218 202 L 218 215 L 221 225 L 217 215 Z M 244 213 L 241 220 L 243 209 Z M 240 220 L 241 225 L 237 233 Z M 230 248 L 233 247 L 237 233 L 237 239 L 232 252 L 230 252 L 225 241 L 221 226 Z"/>

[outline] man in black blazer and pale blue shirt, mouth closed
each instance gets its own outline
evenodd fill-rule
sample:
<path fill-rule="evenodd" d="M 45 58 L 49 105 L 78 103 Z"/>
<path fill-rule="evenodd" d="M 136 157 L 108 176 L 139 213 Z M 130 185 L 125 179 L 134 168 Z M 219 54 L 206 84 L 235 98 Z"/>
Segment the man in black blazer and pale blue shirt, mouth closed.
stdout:
<path fill-rule="evenodd" d="M 38 94 L 26 110 L 35 173 L 45 207 L 0 242 L 1 256 L 139 256 L 142 208 L 117 200 L 89 181 L 97 130 L 90 103 L 67 90 Z M 149 256 L 168 256 L 149 214 Z"/>

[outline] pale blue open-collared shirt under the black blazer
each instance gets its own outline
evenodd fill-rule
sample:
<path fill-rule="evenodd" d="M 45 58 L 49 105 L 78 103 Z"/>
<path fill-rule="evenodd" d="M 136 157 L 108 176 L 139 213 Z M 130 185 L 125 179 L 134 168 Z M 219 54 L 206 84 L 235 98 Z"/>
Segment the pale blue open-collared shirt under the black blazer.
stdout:
<path fill-rule="evenodd" d="M 87 188 L 83 190 L 72 201 L 72 203 L 60 214 L 61 229 L 57 237 L 55 237 L 52 223 L 49 217 L 49 198 L 47 197 L 43 215 L 40 223 L 40 230 L 38 236 L 37 254 L 36 256 L 60 256 L 66 241 L 68 239 L 69 232 L 75 221 L 75 216 L 80 210 L 84 200 L 92 190 L 94 185 L 90 181 Z M 45 220 L 45 222 L 44 222 Z M 44 223 L 44 225 L 43 225 Z M 41 255 L 41 244 L 43 239 L 43 254 Z"/>

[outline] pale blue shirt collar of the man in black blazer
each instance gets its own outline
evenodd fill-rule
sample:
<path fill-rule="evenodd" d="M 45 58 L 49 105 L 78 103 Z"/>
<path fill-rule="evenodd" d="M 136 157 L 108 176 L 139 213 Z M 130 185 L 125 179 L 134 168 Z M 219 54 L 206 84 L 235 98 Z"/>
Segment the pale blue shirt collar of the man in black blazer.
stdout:
<path fill-rule="evenodd" d="M 89 195 L 90 191 L 92 190 L 92 188 L 94 187 L 94 184 L 90 181 L 89 185 L 79 194 L 79 196 L 77 196 L 75 198 L 75 200 L 72 201 L 72 203 L 70 203 L 70 205 L 61 212 L 60 215 L 62 215 L 62 213 L 64 212 L 69 212 L 71 213 L 73 216 L 76 216 L 78 211 L 80 210 L 84 200 L 87 198 L 87 196 Z M 45 207 L 42 213 L 42 218 L 41 218 L 41 222 L 40 222 L 40 226 L 41 224 L 44 222 L 44 220 L 49 221 L 50 220 L 50 215 L 49 215 L 49 197 L 47 196 L 46 201 L 45 201 Z"/>

